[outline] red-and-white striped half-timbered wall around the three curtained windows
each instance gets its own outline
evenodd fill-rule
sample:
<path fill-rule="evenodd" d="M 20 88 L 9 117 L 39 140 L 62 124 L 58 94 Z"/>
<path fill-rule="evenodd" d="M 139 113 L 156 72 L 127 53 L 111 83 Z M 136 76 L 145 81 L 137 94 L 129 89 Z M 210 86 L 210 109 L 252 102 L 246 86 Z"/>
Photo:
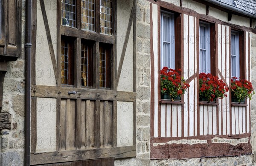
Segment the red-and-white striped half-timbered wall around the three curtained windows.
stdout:
<path fill-rule="evenodd" d="M 225 23 L 213 17 L 204 17 L 188 8 L 178 7 L 167 1 L 150 2 L 151 10 L 151 158 L 152 153 L 163 152 L 156 146 L 172 146 L 173 140 L 199 139 L 207 141 L 212 138 L 250 139 L 250 104 L 231 103 L 231 94 L 227 98 L 217 99 L 215 103 L 200 102 L 199 88 L 199 20 L 211 25 L 211 73 L 221 78 L 230 87 L 230 32 L 231 28 L 244 32 L 244 71 L 249 79 L 250 68 L 250 32 L 252 29 Z M 180 61 L 184 79 L 190 84 L 182 96 L 178 107 L 174 103 L 160 101 L 160 10 L 181 13 L 182 56 Z M 191 37 L 192 36 L 192 37 Z M 247 43 L 247 44 L 246 44 Z M 175 43 L 176 44 L 176 43 Z M 247 58 L 247 59 L 246 59 Z M 175 64 L 176 65 L 176 64 Z M 156 70 L 157 68 L 157 70 Z M 192 71 L 191 71 L 192 70 Z M 154 72 L 154 73 L 153 73 Z M 153 91 L 153 93 L 152 93 Z M 247 129 L 248 128 L 248 129 Z M 236 131 L 237 130 L 237 131 Z M 229 138 L 230 137 L 230 138 Z M 152 143 L 155 143 L 152 146 Z M 159 143 L 159 144 L 158 144 Z M 213 143 L 213 142 L 212 142 Z M 250 151 L 250 143 L 247 144 Z M 164 148 L 163 148 L 164 149 Z M 156 150 L 156 151 L 155 151 Z M 158 156 L 159 157 L 159 156 Z M 169 158 L 168 156 L 166 158 Z"/>

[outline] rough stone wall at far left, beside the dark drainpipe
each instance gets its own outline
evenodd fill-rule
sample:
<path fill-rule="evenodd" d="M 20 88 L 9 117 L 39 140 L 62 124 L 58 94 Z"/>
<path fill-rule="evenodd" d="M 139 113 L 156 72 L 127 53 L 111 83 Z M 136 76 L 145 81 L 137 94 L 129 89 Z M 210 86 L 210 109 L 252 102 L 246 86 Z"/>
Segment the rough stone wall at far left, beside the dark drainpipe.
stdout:
<path fill-rule="evenodd" d="M 22 0 L 22 54 L 15 62 L 8 62 L 3 84 L 3 113 L 12 115 L 12 129 L 0 132 L 0 165 L 22 166 L 24 160 L 25 110 L 25 0 Z"/>

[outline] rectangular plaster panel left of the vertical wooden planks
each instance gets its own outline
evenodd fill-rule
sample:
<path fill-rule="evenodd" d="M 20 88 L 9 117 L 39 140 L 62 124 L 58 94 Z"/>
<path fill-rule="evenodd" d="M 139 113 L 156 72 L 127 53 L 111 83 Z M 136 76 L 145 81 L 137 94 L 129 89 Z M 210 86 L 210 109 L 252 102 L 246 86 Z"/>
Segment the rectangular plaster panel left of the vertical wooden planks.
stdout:
<path fill-rule="evenodd" d="M 37 98 L 36 152 L 56 151 L 56 98 Z"/>

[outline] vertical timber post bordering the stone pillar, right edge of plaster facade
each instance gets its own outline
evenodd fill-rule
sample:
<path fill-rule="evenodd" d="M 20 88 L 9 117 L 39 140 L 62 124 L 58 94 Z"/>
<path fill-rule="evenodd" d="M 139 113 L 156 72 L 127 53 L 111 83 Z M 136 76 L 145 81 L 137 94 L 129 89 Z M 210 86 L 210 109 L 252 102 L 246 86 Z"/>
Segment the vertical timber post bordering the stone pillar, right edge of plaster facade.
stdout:
<path fill-rule="evenodd" d="M 152 5 L 152 4 L 150 4 Z M 137 0 L 134 0 L 134 20 L 133 20 L 133 91 L 137 91 L 137 70 L 136 70 L 136 54 L 137 54 Z M 150 30 L 151 31 L 151 30 Z M 136 145 L 136 101 L 133 103 L 133 108 L 134 108 L 134 145 Z"/>

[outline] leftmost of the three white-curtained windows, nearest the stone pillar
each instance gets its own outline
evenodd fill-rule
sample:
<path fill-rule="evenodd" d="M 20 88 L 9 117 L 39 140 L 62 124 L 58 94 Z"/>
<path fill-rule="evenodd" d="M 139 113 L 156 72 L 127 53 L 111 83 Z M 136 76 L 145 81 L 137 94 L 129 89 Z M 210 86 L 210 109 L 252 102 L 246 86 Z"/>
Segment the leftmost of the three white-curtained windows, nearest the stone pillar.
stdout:
<path fill-rule="evenodd" d="M 174 14 L 161 13 L 161 69 L 175 68 Z"/>

